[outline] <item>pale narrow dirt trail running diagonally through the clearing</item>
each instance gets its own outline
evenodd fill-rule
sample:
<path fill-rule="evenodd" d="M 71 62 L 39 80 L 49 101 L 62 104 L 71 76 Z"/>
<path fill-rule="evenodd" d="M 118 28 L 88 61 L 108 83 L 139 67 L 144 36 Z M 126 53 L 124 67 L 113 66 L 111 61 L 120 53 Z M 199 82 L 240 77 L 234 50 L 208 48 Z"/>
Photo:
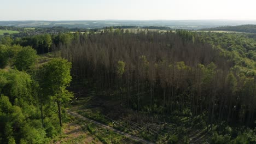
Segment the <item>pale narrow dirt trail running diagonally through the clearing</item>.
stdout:
<path fill-rule="evenodd" d="M 94 121 L 94 120 L 92 120 L 92 119 L 90 119 L 90 118 L 81 116 L 81 115 L 79 115 L 77 112 L 72 111 L 71 109 L 68 109 L 68 110 L 67 110 L 67 113 L 68 113 L 69 115 L 74 116 L 74 117 L 83 119 L 83 120 L 85 120 L 85 121 L 89 121 L 89 122 L 91 122 L 91 123 L 95 123 L 95 124 L 97 124 L 97 125 L 100 125 L 101 127 L 106 128 L 106 129 L 109 129 L 109 130 L 112 130 L 112 131 L 114 131 L 115 133 L 124 135 L 125 137 L 127 137 L 127 138 L 129 138 L 129 139 L 132 139 L 132 140 L 134 140 L 134 141 L 138 141 L 138 142 L 141 142 L 141 143 L 153 144 L 153 142 L 144 140 L 144 139 L 139 138 L 139 137 L 137 137 L 137 136 L 133 136 L 133 135 L 124 133 L 123 131 L 120 131 L 120 130 L 118 130 L 118 129 L 114 129 L 114 128 L 112 128 L 112 127 L 109 127 L 109 126 L 106 125 L 106 124 L 102 124 L 102 123 L 97 122 L 97 121 Z"/>

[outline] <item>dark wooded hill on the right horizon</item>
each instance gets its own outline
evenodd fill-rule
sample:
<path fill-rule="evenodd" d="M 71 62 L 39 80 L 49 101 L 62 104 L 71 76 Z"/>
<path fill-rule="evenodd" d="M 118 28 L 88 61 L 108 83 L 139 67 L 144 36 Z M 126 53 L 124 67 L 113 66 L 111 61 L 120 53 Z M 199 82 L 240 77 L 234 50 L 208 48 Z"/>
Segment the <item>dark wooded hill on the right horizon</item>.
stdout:
<path fill-rule="evenodd" d="M 256 25 L 223 26 L 214 28 L 203 28 L 202 31 L 234 31 L 245 33 L 256 33 Z"/>

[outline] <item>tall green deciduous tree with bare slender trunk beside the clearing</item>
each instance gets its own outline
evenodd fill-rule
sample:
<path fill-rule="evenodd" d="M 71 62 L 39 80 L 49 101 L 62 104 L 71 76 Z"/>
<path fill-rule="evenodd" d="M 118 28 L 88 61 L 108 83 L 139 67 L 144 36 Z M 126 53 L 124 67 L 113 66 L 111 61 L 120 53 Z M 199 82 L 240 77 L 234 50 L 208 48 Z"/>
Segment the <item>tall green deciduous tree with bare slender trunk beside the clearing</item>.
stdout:
<path fill-rule="evenodd" d="M 72 93 L 66 90 L 72 80 L 70 70 L 71 63 L 66 59 L 59 58 L 44 64 L 39 70 L 39 85 L 44 91 L 45 97 L 51 97 L 56 102 L 60 126 L 62 126 L 61 106 L 72 97 Z"/>

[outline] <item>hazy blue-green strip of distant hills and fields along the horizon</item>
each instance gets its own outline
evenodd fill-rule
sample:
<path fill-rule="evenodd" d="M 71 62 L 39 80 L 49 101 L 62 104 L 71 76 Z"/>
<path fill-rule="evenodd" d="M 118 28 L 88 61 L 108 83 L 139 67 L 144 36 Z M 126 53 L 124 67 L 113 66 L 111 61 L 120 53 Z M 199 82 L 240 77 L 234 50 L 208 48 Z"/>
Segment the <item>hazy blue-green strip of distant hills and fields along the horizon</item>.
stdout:
<path fill-rule="evenodd" d="M 148 27 L 197 30 L 219 26 L 256 25 L 256 20 L 85 20 L 85 21 L 0 21 L 0 26 L 13 27 L 65 27 L 65 28 L 103 28 L 103 27 Z M 153 27 L 152 27 L 153 26 Z M 168 27 L 168 28 L 167 28 Z M 167 29 L 166 29 L 167 28 Z"/>

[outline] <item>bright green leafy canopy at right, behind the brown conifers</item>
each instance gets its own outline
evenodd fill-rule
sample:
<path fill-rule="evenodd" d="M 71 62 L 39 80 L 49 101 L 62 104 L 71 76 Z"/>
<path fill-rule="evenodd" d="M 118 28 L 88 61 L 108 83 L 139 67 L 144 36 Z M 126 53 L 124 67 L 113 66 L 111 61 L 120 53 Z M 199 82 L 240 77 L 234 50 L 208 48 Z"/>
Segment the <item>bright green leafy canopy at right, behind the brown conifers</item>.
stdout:
<path fill-rule="evenodd" d="M 240 66 L 243 69 L 254 69 L 255 61 L 255 39 L 250 34 L 239 33 L 199 33 L 206 43 L 213 45 L 214 49 L 224 56 L 232 67 Z M 240 71 L 246 73 L 247 70 Z"/>

